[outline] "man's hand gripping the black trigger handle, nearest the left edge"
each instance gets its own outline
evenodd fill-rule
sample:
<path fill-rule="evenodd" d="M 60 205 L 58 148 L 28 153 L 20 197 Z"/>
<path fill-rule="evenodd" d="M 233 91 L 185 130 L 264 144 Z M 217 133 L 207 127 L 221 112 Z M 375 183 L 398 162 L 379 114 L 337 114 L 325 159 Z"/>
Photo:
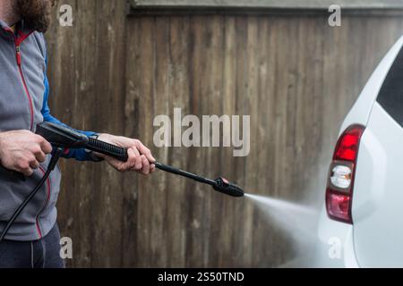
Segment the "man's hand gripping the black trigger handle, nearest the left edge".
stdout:
<path fill-rule="evenodd" d="M 0 133 L 0 164 L 26 177 L 30 177 L 51 152 L 50 143 L 29 130 Z"/>

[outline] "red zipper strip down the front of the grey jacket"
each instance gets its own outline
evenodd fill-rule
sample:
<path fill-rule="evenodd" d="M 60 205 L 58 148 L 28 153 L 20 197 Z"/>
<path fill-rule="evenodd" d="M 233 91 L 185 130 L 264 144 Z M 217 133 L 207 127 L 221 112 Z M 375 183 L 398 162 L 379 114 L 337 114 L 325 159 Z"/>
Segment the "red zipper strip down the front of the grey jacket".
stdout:
<path fill-rule="evenodd" d="M 22 72 L 22 60 L 21 60 L 21 43 L 30 36 L 30 34 L 32 32 L 30 32 L 29 34 L 23 35 L 20 34 L 20 38 L 18 38 L 17 36 L 15 36 L 13 29 L 5 29 L 6 31 L 10 32 L 13 35 L 13 39 L 14 39 L 14 45 L 15 45 L 15 55 L 16 55 L 16 60 L 17 60 L 17 65 L 18 65 L 18 70 L 20 71 L 20 76 L 21 76 L 21 80 L 22 80 L 22 84 L 23 87 L 25 89 L 25 94 L 28 98 L 28 102 L 29 102 L 29 108 L 30 108 L 30 130 L 33 131 L 33 122 L 34 122 L 34 110 L 33 110 L 33 102 L 32 102 L 32 97 L 30 97 L 30 90 L 28 89 L 28 85 L 27 82 L 24 78 L 24 74 Z M 39 168 L 41 172 L 43 172 L 45 174 L 45 171 L 43 170 L 43 168 Z M 40 225 L 39 225 L 39 215 L 45 210 L 45 208 L 47 207 L 47 204 L 49 202 L 50 199 L 50 192 L 51 192 L 51 188 L 50 188 L 50 179 L 47 178 L 47 183 L 46 183 L 46 188 L 47 188 L 47 199 L 45 200 L 45 205 L 40 209 L 39 213 L 37 214 L 37 217 L 35 218 L 35 223 L 36 223 L 36 227 L 37 227 L 37 231 L 39 234 L 39 239 L 42 238 L 42 231 L 40 231 Z"/>

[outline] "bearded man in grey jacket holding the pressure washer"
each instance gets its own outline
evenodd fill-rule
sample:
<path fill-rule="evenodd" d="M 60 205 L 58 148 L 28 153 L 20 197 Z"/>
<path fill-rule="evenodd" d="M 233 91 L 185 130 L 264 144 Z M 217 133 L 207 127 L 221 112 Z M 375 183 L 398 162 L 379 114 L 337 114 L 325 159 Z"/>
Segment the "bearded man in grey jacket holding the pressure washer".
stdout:
<path fill-rule="evenodd" d="M 50 19 L 51 0 L 0 0 L 0 233 L 13 212 L 47 170 L 51 145 L 34 134 L 41 122 L 58 122 L 49 111 L 46 76 L 47 52 L 43 33 Z M 119 172 L 150 174 L 155 159 L 139 140 L 83 132 L 89 137 L 128 148 L 126 163 L 72 150 L 65 157 L 106 160 Z M 8 170 L 23 173 L 19 181 Z M 24 209 L 0 243 L 0 267 L 64 267 L 56 225 L 60 172 Z"/>

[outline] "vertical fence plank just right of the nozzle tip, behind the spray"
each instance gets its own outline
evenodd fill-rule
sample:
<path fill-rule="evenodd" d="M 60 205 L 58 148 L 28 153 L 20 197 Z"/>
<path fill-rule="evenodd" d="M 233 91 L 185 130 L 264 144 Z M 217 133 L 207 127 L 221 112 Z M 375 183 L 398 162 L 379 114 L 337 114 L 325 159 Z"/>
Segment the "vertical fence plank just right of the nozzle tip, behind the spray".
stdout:
<path fill-rule="evenodd" d="M 270 118 L 270 105 L 273 104 L 273 86 L 274 86 L 274 72 L 270 72 L 271 66 L 274 63 L 274 53 L 270 45 L 270 37 L 272 35 L 270 30 L 270 21 L 266 21 L 264 18 L 258 19 L 258 38 L 260 41 L 256 43 L 256 56 L 257 61 L 256 69 L 258 76 L 257 86 L 257 102 L 258 111 L 257 114 L 253 114 L 254 122 L 256 124 L 256 132 L 259 136 L 256 139 L 251 138 L 251 141 L 255 141 L 254 144 L 258 144 L 259 152 L 253 152 L 253 161 L 256 160 L 255 170 L 256 177 L 253 180 L 251 186 L 251 193 L 253 194 L 267 194 L 270 195 L 270 182 L 272 181 L 271 175 L 273 173 L 272 168 L 272 144 L 271 142 L 271 130 L 273 122 Z M 268 52 L 270 56 L 268 56 Z M 264 103 L 264 104 L 263 104 Z M 253 148 L 251 147 L 251 150 Z M 267 220 L 262 219 L 262 213 L 253 209 L 253 265 L 270 265 L 270 261 L 275 260 L 275 250 L 272 243 L 272 227 Z M 277 258 L 277 257 L 276 257 Z"/>

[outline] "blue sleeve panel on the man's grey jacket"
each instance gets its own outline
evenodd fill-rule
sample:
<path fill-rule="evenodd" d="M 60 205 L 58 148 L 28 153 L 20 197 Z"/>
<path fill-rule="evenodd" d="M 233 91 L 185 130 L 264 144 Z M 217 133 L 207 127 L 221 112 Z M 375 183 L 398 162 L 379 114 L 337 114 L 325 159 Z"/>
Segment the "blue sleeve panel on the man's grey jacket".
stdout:
<path fill-rule="evenodd" d="M 49 82 L 47 81 L 46 72 L 45 72 L 44 84 L 45 84 L 45 95 L 43 97 L 44 98 L 43 99 L 43 106 L 42 106 L 42 110 L 41 110 L 41 113 L 43 115 L 44 121 L 45 122 L 52 122 L 52 123 L 56 123 L 56 124 L 61 124 L 61 125 L 65 126 L 65 127 L 73 129 L 73 128 L 65 125 L 64 123 L 60 122 L 55 117 L 53 117 L 52 114 L 50 114 L 49 105 L 47 105 L 47 99 L 49 97 Z M 91 132 L 91 131 L 81 131 L 81 130 L 75 130 L 75 131 L 80 132 L 82 134 L 85 134 L 88 137 L 97 134 L 97 133 Z M 68 154 L 64 155 L 64 158 L 75 158 L 78 161 L 91 161 L 91 157 L 87 152 L 85 152 L 85 149 L 71 149 Z"/>

